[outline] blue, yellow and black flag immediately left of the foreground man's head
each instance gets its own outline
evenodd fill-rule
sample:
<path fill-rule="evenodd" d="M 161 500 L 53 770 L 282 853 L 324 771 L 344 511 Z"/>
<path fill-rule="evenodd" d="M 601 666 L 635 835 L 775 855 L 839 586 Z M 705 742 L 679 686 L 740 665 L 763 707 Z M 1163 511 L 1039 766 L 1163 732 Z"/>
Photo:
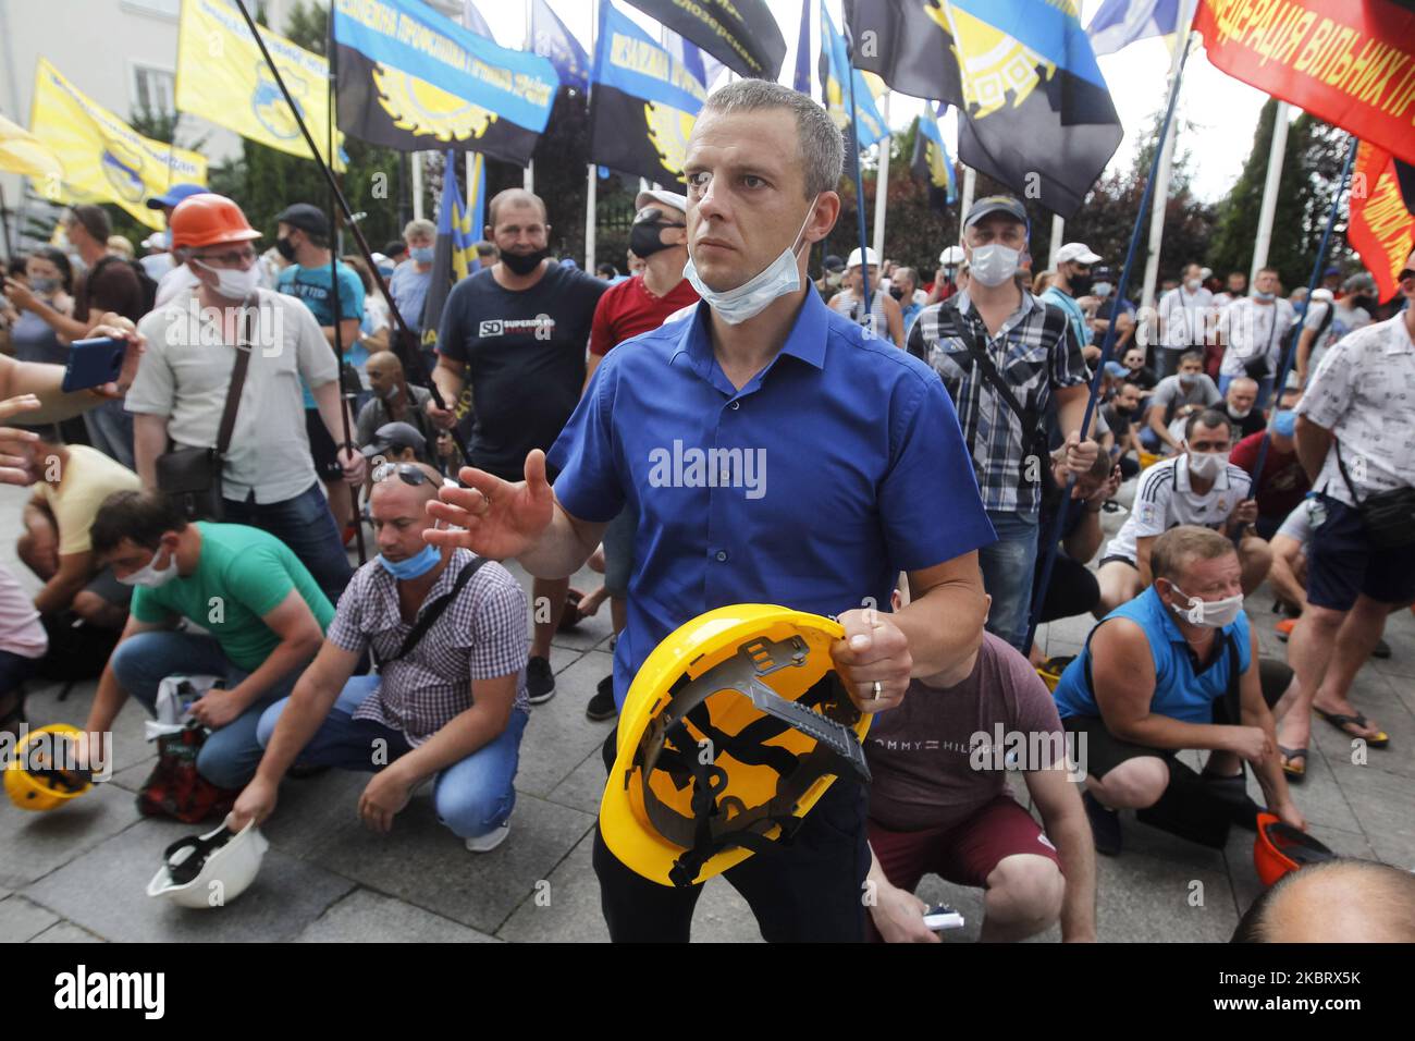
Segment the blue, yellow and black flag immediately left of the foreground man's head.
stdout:
<path fill-rule="evenodd" d="M 708 96 L 702 79 L 606 0 L 590 81 L 590 161 L 681 181 L 688 136 Z"/>

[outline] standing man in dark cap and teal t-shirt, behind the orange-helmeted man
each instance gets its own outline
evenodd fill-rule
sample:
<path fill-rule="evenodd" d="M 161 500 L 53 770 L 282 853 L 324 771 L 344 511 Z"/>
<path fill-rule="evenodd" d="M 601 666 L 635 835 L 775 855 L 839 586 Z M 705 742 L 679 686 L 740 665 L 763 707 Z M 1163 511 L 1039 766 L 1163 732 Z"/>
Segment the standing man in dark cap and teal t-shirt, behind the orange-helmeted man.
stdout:
<path fill-rule="evenodd" d="M 280 251 L 280 256 L 293 261 L 289 268 L 280 272 L 277 289 L 286 296 L 297 296 L 304 302 L 304 306 L 314 314 L 314 320 L 320 323 L 320 330 L 330 341 L 331 350 L 335 346 L 334 314 L 337 310 L 340 316 L 337 343 L 344 351 L 352 350 L 358 341 L 359 323 L 364 320 L 364 282 L 352 268 L 340 263 L 335 303 L 335 293 L 331 292 L 334 282 L 330 275 L 334 259 L 330 254 L 330 222 L 325 220 L 324 211 L 310 203 L 296 203 L 282 210 L 275 220 L 275 248 Z M 340 357 L 341 365 L 345 360 L 345 357 Z M 314 456 L 314 469 L 324 483 L 334 524 L 340 531 L 344 531 L 354 516 L 354 494 L 348 482 L 344 480 L 338 449 L 348 448 L 351 452 L 358 452 L 358 445 L 351 442 L 335 446 L 320 419 L 320 411 L 308 385 L 304 385 L 303 389 L 304 428 L 310 435 L 310 455 Z M 348 535 L 344 538 L 347 541 Z"/>

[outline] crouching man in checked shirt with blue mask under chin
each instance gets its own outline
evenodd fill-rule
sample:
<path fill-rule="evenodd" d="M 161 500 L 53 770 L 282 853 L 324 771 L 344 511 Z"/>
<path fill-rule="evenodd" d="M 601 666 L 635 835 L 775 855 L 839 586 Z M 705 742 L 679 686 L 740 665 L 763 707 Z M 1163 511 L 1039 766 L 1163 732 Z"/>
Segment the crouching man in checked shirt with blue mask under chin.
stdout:
<path fill-rule="evenodd" d="M 388 831 L 436 776 L 437 817 L 467 848 L 507 837 L 526 701 L 526 599 L 499 564 L 423 541 L 441 474 L 426 463 L 374 472 L 379 557 L 355 572 L 314 663 L 260 718 L 265 756 L 232 827 L 275 810 L 294 763 L 369 770 L 359 816 Z M 354 676 L 372 647 L 376 676 Z"/>

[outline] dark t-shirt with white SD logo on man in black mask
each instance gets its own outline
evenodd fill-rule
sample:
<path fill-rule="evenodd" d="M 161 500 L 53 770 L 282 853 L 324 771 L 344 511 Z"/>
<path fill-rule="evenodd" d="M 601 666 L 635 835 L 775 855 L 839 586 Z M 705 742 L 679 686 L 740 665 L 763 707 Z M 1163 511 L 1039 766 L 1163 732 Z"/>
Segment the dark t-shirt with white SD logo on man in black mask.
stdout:
<path fill-rule="evenodd" d="M 491 269 L 453 286 L 437 350 L 467 367 L 473 466 L 521 480 L 526 453 L 555 443 L 584 387 L 584 348 L 606 289 L 553 261 L 531 289 L 504 289 Z"/>

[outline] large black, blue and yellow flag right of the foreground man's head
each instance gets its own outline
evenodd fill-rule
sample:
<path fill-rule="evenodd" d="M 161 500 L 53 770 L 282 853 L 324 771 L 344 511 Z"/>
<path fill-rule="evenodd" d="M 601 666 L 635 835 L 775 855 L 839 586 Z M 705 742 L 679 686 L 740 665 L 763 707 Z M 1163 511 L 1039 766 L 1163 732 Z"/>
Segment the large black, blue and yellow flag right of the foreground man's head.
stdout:
<path fill-rule="evenodd" d="M 1071 217 L 1121 144 L 1077 0 L 849 0 L 856 65 L 959 112 L 958 159 Z"/>

